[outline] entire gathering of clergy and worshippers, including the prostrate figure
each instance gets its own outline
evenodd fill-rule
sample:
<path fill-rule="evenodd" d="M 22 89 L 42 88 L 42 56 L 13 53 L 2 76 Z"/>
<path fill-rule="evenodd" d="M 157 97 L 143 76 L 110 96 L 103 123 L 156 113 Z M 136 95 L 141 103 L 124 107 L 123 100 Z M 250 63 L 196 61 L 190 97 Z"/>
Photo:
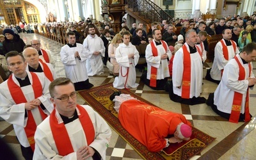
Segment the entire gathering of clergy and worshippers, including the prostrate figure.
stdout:
<path fill-rule="evenodd" d="M 25 159 L 106 159 L 109 125 L 92 107 L 77 104 L 77 91 L 92 88 L 89 77 L 104 74 L 104 67 L 114 77 L 114 88 L 136 88 L 140 58 L 146 61 L 140 81 L 153 90 L 168 92 L 170 100 L 189 105 L 206 103 L 229 122 L 251 120 L 249 88 L 256 84 L 252 72 L 256 12 L 243 18 L 162 20 L 152 22 L 147 30 L 141 22 L 133 23 L 131 29 L 126 23 L 122 22 L 120 33 L 115 33 L 108 22 L 92 22 L 90 18 L 45 24 L 67 28 L 67 44 L 60 51 L 66 77 L 57 76 L 51 51 L 42 49 L 40 40 L 25 44 L 20 38 L 24 24 L 17 25 L 17 32 L 13 26 L 3 29 L 0 117 L 13 124 Z M 182 29 L 176 35 L 178 26 Z M 42 25 L 26 31 L 33 30 L 44 32 Z M 212 35 L 223 38 L 214 47 L 214 61 L 205 79 L 218 87 L 205 99 L 201 96 L 203 67 L 209 52 L 207 38 Z M 146 45 L 145 55 L 138 51 L 140 45 Z M 191 123 L 181 114 L 148 106 L 131 95 L 115 93 L 112 98 L 121 124 L 152 152 L 189 140 L 192 134 Z M 151 111 L 159 115 L 147 115 Z M 152 124 L 156 119 L 164 122 L 147 126 L 136 121 L 146 115 Z M 131 120 L 132 116 L 138 118 Z M 157 132 L 152 134 L 152 129 Z"/>

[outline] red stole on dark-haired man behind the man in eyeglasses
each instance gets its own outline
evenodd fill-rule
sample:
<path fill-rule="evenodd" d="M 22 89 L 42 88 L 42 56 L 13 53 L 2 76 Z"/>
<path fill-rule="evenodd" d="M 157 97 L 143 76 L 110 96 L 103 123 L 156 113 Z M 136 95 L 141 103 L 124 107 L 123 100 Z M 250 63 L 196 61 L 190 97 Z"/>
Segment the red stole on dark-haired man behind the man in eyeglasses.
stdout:
<path fill-rule="evenodd" d="M 35 99 L 36 99 L 42 95 L 43 88 L 42 88 L 42 84 L 38 79 L 38 76 L 33 72 L 30 72 L 30 73 L 31 73 L 32 82 L 33 82 L 32 88 L 33 88 Z M 20 86 L 14 83 L 12 76 L 10 76 L 7 81 L 9 91 L 12 95 L 12 99 L 16 104 L 26 103 L 27 100 L 25 95 L 23 94 Z M 38 107 L 38 109 L 40 111 L 40 115 L 42 116 L 42 120 L 44 120 L 47 117 L 47 115 L 43 112 L 43 110 L 40 107 Z M 26 127 L 24 127 L 24 130 L 26 132 L 26 136 L 28 138 L 30 147 L 34 151 L 35 150 L 34 135 L 36 131 L 36 123 L 30 110 L 28 110 L 28 121 L 27 121 Z"/>

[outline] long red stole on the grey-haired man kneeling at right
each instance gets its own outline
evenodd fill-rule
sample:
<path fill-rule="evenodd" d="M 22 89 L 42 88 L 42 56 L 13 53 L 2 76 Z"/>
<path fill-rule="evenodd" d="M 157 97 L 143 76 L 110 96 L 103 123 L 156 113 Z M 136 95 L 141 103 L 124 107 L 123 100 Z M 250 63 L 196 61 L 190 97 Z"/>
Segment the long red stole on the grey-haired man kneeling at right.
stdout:
<path fill-rule="evenodd" d="M 183 49 L 183 75 L 182 75 L 182 99 L 189 99 L 190 95 L 190 83 L 191 83 L 191 59 L 190 52 L 186 45 L 182 46 Z"/>

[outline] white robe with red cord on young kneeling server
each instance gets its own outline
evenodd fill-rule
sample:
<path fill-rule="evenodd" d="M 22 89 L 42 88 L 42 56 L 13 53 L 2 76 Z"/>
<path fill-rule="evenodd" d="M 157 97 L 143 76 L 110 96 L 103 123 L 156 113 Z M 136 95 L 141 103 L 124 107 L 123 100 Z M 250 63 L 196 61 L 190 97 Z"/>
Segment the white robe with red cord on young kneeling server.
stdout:
<path fill-rule="evenodd" d="M 134 59 L 128 58 L 128 54 L 134 53 Z M 136 69 L 140 55 L 136 47 L 129 43 L 129 45 L 119 44 L 116 48 L 116 62 L 120 65 L 119 76 L 115 77 L 113 86 L 118 89 L 136 88 L 139 84 L 136 83 Z M 129 68 L 129 73 L 127 75 Z M 126 76 L 125 76 L 126 75 Z M 128 76 L 128 79 L 127 79 Z M 127 79 L 127 81 L 126 81 Z M 124 86 L 126 81 L 126 86 Z"/>

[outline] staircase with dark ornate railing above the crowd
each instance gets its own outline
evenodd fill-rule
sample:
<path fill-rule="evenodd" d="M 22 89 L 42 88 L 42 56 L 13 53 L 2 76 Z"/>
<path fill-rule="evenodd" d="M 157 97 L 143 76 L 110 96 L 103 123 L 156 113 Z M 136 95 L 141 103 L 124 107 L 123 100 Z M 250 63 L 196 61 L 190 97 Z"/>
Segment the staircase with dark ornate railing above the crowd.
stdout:
<path fill-rule="evenodd" d="M 126 0 L 125 12 L 143 24 L 172 20 L 168 13 L 150 0 Z"/>

